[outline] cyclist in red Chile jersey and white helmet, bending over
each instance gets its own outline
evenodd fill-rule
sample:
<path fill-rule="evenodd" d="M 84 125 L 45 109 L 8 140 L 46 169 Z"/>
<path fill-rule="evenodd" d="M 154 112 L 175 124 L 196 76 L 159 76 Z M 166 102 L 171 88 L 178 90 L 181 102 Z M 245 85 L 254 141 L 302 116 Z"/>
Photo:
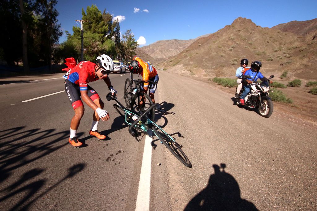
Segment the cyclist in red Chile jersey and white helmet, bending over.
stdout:
<path fill-rule="evenodd" d="M 94 109 L 93 124 L 89 131 L 91 136 L 96 136 L 99 140 L 104 140 L 106 136 L 98 132 L 97 126 L 100 119 L 103 121 L 109 120 L 108 112 L 103 109 L 105 106 L 104 102 L 102 102 L 100 96 L 88 85 L 88 83 L 103 79 L 113 95 L 117 95 L 118 92 L 113 89 L 110 78 L 108 77 L 108 74 L 113 71 L 114 67 L 113 60 L 109 56 L 105 54 L 98 56 L 96 64 L 90 61 L 82 61 L 74 66 L 75 60 L 73 58 L 66 59 L 66 61 L 70 60 L 73 64 L 69 65 L 70 63 L 65 63 L 71 67 L 65 68 L 68 70 L 64 75 L 64 78 L 66 79 L 65 91 L 72 103 L 75 115 L 70 123 L 70 136 L 68 142 L 74 147 L 80 147 L 82 143 L 77 139 L 76 133 L 85 110 L 81 99 L 90 108 Z"/>

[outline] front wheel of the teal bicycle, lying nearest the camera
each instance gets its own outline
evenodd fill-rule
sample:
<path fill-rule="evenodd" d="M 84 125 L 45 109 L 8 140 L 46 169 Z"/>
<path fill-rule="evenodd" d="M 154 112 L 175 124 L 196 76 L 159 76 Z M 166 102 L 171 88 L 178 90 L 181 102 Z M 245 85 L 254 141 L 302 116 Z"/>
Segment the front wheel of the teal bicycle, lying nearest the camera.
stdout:
<path fill-rule="evenodd" d="M 153 132 L 155 135 L 159 138 L 159 140 L 162 141 L 162 143 L 166 146 L 166 148 L 171 151 L 171 153 L 185 166 L 191 168 L 191 162 L 179 146 L 179 144 L 174 141 L 169 135 L 165 133 L 164 130 L 153 126 L 152 127 Z"/>

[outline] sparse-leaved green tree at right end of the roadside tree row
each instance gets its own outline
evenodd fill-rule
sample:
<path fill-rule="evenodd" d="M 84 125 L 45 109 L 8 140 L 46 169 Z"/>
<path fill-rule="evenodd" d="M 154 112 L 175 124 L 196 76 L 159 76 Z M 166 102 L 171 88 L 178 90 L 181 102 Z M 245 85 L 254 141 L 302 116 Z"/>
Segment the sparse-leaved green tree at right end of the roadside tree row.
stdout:
<path fill-rule="evenodd" d="M 123 46 L 124 62 L 129 62 L 135 55 L 134 50 L 138 47 L 138 42 L 135 41 L 134 35 L 130 29 L 126 30 L 126 33 L 122 35 L 121 44 Z"/>

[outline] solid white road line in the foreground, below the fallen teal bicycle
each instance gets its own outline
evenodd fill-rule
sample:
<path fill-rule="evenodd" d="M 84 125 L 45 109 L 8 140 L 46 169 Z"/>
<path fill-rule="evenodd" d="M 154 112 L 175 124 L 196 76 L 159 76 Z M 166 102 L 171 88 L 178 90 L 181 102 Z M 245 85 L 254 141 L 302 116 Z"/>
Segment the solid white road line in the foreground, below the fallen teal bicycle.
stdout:
<path fill-rule="evenodd" d="M 152 136 L 152 134 L 149 134 Z M 142 167 L 139 181 L 139 190 L 135 211 L 150 210 L 150 188 L 151 188 L 151 162 L 152 162 L 152 138 L 146 136 L 142 158 Z"/>

